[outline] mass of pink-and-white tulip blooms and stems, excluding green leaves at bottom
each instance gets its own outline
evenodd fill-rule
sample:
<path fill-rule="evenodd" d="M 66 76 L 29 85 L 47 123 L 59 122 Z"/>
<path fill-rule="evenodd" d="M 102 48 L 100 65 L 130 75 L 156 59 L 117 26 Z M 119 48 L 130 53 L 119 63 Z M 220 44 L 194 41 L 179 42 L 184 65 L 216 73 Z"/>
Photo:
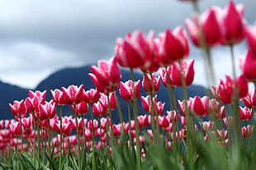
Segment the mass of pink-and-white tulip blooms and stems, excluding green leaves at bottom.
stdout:
<path fill-rule="evenodd" d="M 192 3 L 197 11 L 198 2 Z M 29 91 L 26 99 L 10 103 L 16 119 L 5 120 L 4 127 L 3 121 L 0 122 L 2 156 L 9 156 L 14 150 L 40 154 L 45 149 L 49 154 L 54 150 L 59 157 L 71 151 L 80 158 L 82 149 L 91 152 L 107 148 L 112 153 L 113 147 L 126 140 L 127 147 L 135 147 L 137 168 L 141 168 L 140 163 L 147 158 L 145 145 L 157 143 L 159 139 L 164 139 L 170 153 L 178 153 L 182 152 L 184 145 L 189 146 L 192 140 L 197 140 L 196 132 L 206 142 L 216 140 L 227 150 L 233 144 L 243 144 L 244 138 L 253 138 L 256 93 L 255 90 L 249 92 L 249 82 L 254 85 L 256 82 L 256 26 L 246 24 L 244 6 L 235 6 L 232 1 L 224 9 L 211 7 L 201 15 L 195 12 L 193 21 L 186 19 L 185 24 L 192 43 L 206 54 L 206 77 L 213 85 L 211 94 L 187 97 L 186 88 L 194 80 L 195 60 L 186 60 L 189 41 L 183 27 L 168 29 L 159 37 L 155 37 L 154 31 L 145 35 L 135 30 L 116 39 L 115 56 L 110 61 L 101 60 L 97 66 L 91 67 L 89 76 L 95 89 L 85 90 L 84 85 L 70 85 L 51 90 L 50 102 L 45 101 L 46 91 Z M 244 39 L 247 39 L 249 50 L 240 59 L 241 75 L 236 76 L 233 48 Z M 233 78 L 225 76 L 225 80 L 220 79 L 216 85 L 211 48 L 218 45 L 230 47 Z M 118 65 L 130 69 L 130 80 L 121 81 Z M 134 78 L 137 69 L 144 73 L 142 80 Z M 166 99 L 169 99 L 170 108 L 165 109 L 167 101 L 157 98 L 160 82 L 168 88 Z M 141 85 L 147 96 L 140 96 Z M 175 98 L 176 87 L 183 88 L 183 100 Z M 208 92 L 210 90 L 206 94 Z M 123 121 L 116 93 L 127 101 L 128 122 Z M 141 100 L 145 114 L 138 112 L 138 100 Z M 241 100 L 244 107 L 239 106 Z M 71 106 L 73 116 L 62 116 L 64 105 Z M 117 124 L 112 120 L 114 109 L 119 111 L 120 122 Z M 83 117 L 88 110 L 91 119 Z M 200 145 L 200 141 L 197 142 Z M 189 150 L 183 153 L 189 154 Z M 198 157 L 198 153 L 193 154 L 193 159 Z M 181 156 L 181 163 L 183 159 Z"/>

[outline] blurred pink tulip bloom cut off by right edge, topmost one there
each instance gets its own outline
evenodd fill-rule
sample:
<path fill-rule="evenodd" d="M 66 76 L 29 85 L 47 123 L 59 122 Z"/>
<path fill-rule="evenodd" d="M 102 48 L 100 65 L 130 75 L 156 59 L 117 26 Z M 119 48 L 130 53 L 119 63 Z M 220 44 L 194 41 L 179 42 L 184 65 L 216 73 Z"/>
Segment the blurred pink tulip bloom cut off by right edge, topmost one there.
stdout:
<path fill-rule="evenodd" d="M 247 26 L 245 32 L 249 50 L 254 53 L 254 56 L 256 56 L 256 23 L 254 25 Z"/>

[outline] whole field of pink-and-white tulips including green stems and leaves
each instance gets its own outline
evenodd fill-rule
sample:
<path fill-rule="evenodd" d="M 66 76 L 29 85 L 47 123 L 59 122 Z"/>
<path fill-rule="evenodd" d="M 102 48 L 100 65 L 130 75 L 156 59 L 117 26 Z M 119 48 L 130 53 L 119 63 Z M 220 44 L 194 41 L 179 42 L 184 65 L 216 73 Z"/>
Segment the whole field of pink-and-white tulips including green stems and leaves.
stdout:
<path fill-rule="evenodd" d="M 255 169 L 256 25 L 247 25 L 242 4 L 230 1 L 200 13 L 200 1 L 187 2 L 193 16 L 185 19 L 186 28 L 135 30 L 117 38 L 114 57 L 91 67 L 94 89 L 50 90 L 50 101 L 46 90 L 29 90 L 26 99 L 10 103 L 15 119 L 0 121 L 0 169 Z M 247 51 L 235 61 L 235 45 L 242 41 Z M 205 96 L 187 96 L 197 74 L 193 45 L 205 64 Z M 211 56 L 211 48 L 220 46 L 230 48 L 232 75 L 225 79 L 216 77 Z M 121 81 L 121 67 L 130 80 Z M 141 80 L 135 80 L 138 70 Z M 158 99 L 160 87 L 168 89 L 164 101 Z M 176 87 L 183 99 L 176 98 Z M 63 116 L 65 105 L 73 115 Z"/>

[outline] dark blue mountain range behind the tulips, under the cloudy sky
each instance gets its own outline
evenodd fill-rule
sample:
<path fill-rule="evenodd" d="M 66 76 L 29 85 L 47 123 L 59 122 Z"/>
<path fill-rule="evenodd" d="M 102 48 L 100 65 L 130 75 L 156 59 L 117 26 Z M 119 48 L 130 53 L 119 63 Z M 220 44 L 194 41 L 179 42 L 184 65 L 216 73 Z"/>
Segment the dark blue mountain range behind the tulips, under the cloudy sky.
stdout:
<path fill-rule="evenodd" d="M 90 66 L 79 67 L 79 68 L 65 68 L 60 71 L 56 71 L 45 80 L 42 80 L 39 85 L 37 85 L 36 90 L 44 91 L 47 90 L 47 100 L 52 99 L 50 90 L 60 89 L 61 87 L 68 87 L 69 85 L 85 85 L 85 90 L 94 88 L 91 78 L 88 76 L 88 73 L 92 72 Z M 126 81 L 130 79 L 130 72 L 127 70 L 121 70 L 122 80 Z M 140 72 L 135 72 L 135 80 L 141 80 L 142 74 Z M 10 119 L 13 118 L 13 115 L 10 111 L 8 103 L 12 103 L 14 100 L 26 99 L 28 96 L 27 89 L 22 89 L 17 85 L 9 85 L 0 81 L 0 119 Z M 187 93 L 189 96 L 203 96 L 206 94 L 206 89 L 200 85 L 191 85 L 187 88 Z M 118 94 L 118 93 L 117 93 Z M 183 90 L 182 88 L 175 88 L 175 94 L 177 99 L 183 99 Z M 146 95 L 144 90 L 141 90 L 141 95 Z M 158 92 L 159 101 L 166 103 L 165 110 L 169 110 L 168 102 L 168 90 L 161 84 L 160 90 Z M 125 100 L 120 98 L 121 110 L 124 115 L 124 119 L 127 120 L 126 107 L 127 103 Z M 139 113 L 145 113 L 144 109 L 140 106 Z M 117 109 L 116 109 L 117 110 Z M 117 122 L 118 113 L 117 111 L 113 112 L 114 122 Z M 64 108 L 64 115 L 72 114 L 72 110 L 69 107 Z M 89 115 L 87 115 L 88 117 Z"/>

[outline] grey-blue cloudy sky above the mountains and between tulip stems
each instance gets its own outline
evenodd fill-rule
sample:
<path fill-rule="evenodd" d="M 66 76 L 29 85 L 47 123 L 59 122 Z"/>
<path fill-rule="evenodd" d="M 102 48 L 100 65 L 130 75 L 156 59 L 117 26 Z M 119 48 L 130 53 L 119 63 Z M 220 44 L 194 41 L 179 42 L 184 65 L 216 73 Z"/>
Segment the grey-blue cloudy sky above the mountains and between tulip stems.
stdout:
<path fill-rule="evenodd" d="M 201 0 L 200 8 L 225 0 Z M 245 6 L 245 19 L 256 21 L 256 2 L 237 0 Z M 184 26 L 192 4 L 177 0 L 0 0 L 0 80 L 34 89 L 47 76 L 65 67 L 97 64 L 114 55 L 117 37 L 134 30 L 156 34 Z M 196 59 L 194 84 L 206 85 L 201 52 L 192 44 L 187 59 Z M 246 44 L 235 46 L 237 71 Z M 231 75 L 229 48 L 214 48 L 216 76 Z"/>

